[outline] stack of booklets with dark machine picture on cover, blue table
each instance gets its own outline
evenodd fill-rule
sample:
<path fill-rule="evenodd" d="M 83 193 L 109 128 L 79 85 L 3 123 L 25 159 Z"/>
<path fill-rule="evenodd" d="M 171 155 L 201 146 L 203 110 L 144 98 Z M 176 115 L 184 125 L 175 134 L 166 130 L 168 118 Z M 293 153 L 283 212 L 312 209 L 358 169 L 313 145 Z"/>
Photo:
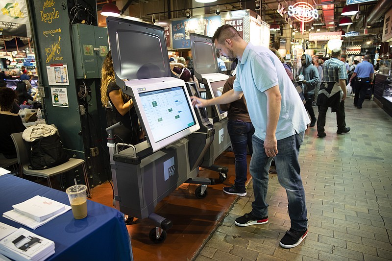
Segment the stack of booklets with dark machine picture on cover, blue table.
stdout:
<path fill-rule="evenodd" d="M 54 254 L 54 242 L 19 228 L 0 240 L 0 253 L 16 261 L 43 261 Z"/>

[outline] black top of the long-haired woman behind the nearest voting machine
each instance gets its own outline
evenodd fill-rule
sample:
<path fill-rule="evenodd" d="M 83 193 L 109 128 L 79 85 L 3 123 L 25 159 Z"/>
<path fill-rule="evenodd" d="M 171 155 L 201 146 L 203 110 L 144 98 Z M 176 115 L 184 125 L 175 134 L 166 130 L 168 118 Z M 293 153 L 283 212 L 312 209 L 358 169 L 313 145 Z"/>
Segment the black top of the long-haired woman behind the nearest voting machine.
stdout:
<path fill-rule="evenodd" d="M 113 105 L 113 102 L 109 96 L 110 92 L 115 90 L 120 90 L 120 89 L 121 88 L 116 85 L 116 81 L 111 81 L 107 87 L 106 95 L 108 96 L 109 101 L 113 107 L 113 109 L 106 108 L 107 125 L 109 127 L 121 121 L 123 125 L 114 129 L 114 134 L 119 137 L 119 139 L 117 139 L 117 142 L 137 144 L 139 143 L 140 130 L 139 130 L 138 117 L 136 114 L 135 107 L 132 107 L 130 109 L 130 112 L 126 113 L 123 116 L 117 111 L 116 107 Z M 123 102 L 126 103 L 128 100 L 129 97 L 127 95 L 123 95 Z"/>

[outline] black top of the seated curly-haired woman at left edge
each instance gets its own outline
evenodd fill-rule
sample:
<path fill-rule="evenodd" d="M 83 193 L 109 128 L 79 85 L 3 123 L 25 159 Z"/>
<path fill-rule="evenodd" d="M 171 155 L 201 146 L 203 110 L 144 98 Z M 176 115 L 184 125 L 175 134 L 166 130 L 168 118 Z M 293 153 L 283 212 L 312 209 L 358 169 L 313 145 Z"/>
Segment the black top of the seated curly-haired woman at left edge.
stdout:
<path fill-rule="evenodd" d="M 26 127 L 19 115 L 0 114 L 0 151 L 8 159 L 16 158 L 16 149 L 11 139 L 12 133 L 23 132 Z"/>

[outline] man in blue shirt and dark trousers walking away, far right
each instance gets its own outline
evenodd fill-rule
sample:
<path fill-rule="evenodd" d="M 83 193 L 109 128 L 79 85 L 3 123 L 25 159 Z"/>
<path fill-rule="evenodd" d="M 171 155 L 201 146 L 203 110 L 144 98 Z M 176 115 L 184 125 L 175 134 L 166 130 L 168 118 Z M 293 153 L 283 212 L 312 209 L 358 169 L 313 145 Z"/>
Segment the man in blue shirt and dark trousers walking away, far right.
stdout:
<path fill-rule="evenodd" d="M 373 80 L 374 69 L 373 65 L 369 63 L 369 59 L 370 56 L 368 54 L 365 55 L 364 61 L 357 65 L 354 73 L 350 77 L 351 82 L 351 80 L 357 76 L 355 80 L 354 106 L 357 106 L 358 109 L 362 109 L 362 103 L 364 103 L 366 93 Z"/>

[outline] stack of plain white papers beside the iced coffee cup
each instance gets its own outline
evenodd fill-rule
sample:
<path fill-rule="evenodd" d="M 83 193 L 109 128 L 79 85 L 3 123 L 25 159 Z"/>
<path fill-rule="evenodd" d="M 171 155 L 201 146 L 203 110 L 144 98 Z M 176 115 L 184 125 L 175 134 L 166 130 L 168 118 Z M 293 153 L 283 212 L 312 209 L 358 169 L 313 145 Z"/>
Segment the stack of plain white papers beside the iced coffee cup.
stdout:
<path fill-rule="evenodd" d="M 36 229 L 71 209 L 68 205 L 38 195 L 12 207 L 14 210 L 5 212 L 3 217 L 31 229 Z"/>

